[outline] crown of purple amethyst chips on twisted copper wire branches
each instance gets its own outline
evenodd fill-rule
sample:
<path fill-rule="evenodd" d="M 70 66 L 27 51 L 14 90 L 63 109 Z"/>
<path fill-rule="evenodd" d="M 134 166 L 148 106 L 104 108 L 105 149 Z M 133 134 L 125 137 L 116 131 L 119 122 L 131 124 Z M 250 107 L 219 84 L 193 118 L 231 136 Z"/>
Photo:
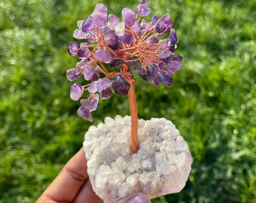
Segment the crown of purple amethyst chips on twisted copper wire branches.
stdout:
<path fill-rule="evenodd" d="M 74 83 L 70 91 L 72 100 L 81 99 L 80 117 L 92 121 L 90 112 L 96 110 L 99 98 L 110 98 L 112 91 L 127 95 L 135 83 L 132 69 L 155 86 L 172 86 L 172 74 L 181 69 L 182 57 L 175 54 L 178 38 L 169 14 L 147 22 L 143 17 L 150 13 L 142 0 L 135 12 L 123 8 L 121 21 L 100 3 L 87 19 L 78 21 L 73 37 L 82 42 L 72 41 L 69 54 L 81 61 L 66 76 L 71 81 L 82 76 L 86 80 Z M 81 98 L 84 91 L 89 92 L 87 98 Z"/>

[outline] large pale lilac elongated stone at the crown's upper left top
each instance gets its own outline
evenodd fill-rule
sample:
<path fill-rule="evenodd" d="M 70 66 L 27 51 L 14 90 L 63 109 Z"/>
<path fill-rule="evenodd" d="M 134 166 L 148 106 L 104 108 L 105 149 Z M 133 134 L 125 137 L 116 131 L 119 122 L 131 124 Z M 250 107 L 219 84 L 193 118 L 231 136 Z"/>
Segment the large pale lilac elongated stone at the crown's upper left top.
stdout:
<path fill-rule="evenodd" d="M 107 26 L 108 9 L 104 4 L 97 4 L 91 16 L 93 24 L 99 29 L 104 29 Z"/>

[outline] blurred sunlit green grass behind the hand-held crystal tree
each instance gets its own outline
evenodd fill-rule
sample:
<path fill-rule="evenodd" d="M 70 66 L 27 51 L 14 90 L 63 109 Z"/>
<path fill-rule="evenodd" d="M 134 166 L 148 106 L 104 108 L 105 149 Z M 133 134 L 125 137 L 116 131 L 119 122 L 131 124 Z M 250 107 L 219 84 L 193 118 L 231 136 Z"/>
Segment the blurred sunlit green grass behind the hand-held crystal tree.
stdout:
<path fill-rule="evenodd" d="M 0 202 L 34 202 L 81 147 L 88 127 L 130 114 L 126 97 L 76 114 L 66 80 L 77 20 L 98 2 L 120 17 L 139 0 L 0 0 Z M 172 88 L 138 78 L 139 117 L 172 120 L 194 163 L 185 188 L 152 202 L 256 202 L 256 1 L 148 0 L 171 15 L 183 69 Z"/>

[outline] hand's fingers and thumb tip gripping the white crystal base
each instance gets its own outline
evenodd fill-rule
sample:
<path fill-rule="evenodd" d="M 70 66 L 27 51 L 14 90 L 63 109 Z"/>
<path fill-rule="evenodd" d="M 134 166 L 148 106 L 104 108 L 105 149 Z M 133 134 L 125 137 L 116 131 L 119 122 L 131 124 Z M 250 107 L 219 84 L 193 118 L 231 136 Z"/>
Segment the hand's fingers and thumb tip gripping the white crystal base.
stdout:
<path fill-rule="evenodd" d="M 102 199 L 93 192 L 88 174 L 84 149 L 78 151 L 62 168 L 36 203 L 101 203 Z M 136 194 L 117 203 L 150 203 L 143 194 Z"/>

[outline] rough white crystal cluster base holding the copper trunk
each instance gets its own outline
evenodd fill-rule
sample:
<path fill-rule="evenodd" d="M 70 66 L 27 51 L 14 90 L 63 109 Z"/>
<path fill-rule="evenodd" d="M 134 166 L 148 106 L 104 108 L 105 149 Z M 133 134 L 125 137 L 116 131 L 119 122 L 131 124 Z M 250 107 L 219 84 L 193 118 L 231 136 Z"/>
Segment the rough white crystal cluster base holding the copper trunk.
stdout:
<path fill-rule="evenodd" d="M 130 117 L 105 118 L 85 135 L 84 150 L 93 190 L 112 203 L 142 192 L 155 198 L 181 191 L 192 157 L 173 123 L 139 120 L 139 151 L 130 153 Z"/>

